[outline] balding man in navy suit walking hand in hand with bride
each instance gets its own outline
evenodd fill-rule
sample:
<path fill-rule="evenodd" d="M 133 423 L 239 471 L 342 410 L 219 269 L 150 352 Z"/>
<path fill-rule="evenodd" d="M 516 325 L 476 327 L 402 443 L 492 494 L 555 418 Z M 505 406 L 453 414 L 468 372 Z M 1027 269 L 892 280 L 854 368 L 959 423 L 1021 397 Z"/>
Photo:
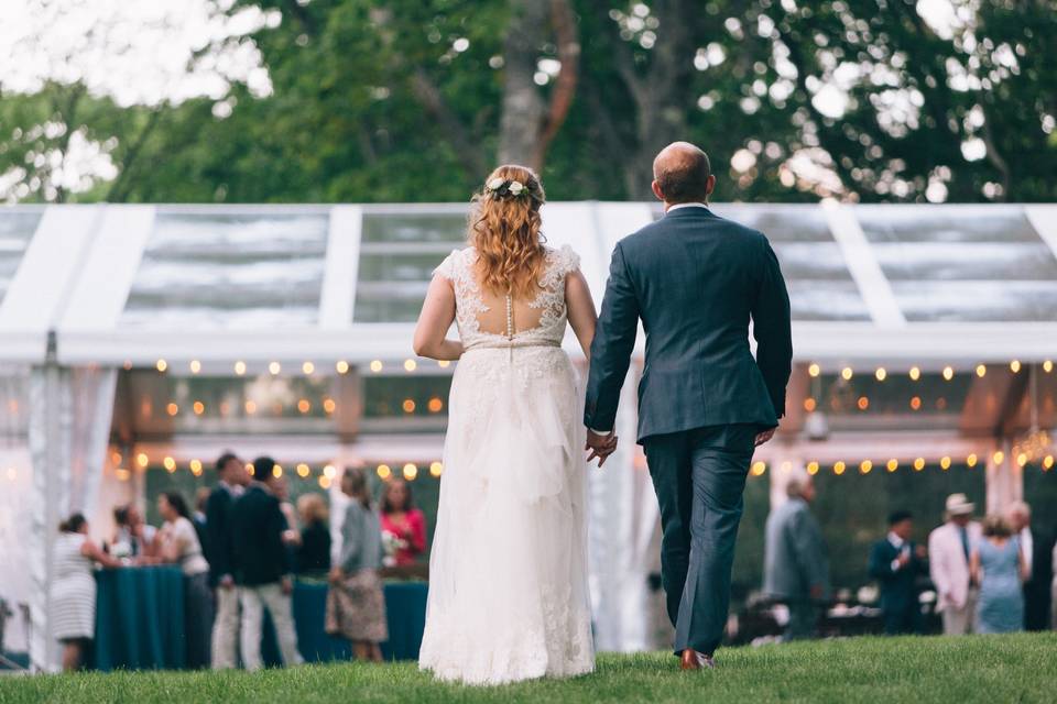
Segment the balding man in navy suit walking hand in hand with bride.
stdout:
<path fill-rule="evenodd" d="M 662 575 L 685 670 L 713 667 L 745 474 L 785 413 L 793 355 L 778 261 L 763 234 L 709 210 L 715 186 L 693 144 L 675 142 L 654 160 L 665 216 L 613 251 L 584 415 L 591 457 L 604 461 L 641 319 L 639 442 L 661 505 Z"/>

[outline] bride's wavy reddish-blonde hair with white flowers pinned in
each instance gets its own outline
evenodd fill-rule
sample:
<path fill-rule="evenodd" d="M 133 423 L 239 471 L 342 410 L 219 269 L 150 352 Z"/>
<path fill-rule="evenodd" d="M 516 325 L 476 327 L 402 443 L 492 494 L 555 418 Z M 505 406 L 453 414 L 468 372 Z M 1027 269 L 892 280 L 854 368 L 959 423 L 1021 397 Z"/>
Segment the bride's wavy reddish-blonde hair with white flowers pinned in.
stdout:
<path fill-rule="evenodd" d="M 499 179 L 502 186 L 492 188 Z M 516 195 L 510 190 L 513 182 L 524 186 Z M 516 164 L 498 167 L 484 184 L 473 196 L 467 234 L 477 250 L 481 286 L 493 294 L 533 297 L 547 253 L 540 232 L 543 184 L 535 172 Z"/>

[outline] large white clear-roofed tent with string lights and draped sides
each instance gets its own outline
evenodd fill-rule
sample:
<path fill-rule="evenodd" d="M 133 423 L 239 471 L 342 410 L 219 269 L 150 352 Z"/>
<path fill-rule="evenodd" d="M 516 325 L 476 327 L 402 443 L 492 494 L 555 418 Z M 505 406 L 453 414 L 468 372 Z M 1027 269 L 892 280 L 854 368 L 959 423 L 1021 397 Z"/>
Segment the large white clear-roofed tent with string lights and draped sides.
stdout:
<path fill-rule="evenodd" d="M 1053 465 L 1057 206 L 713 210 L 767 234 L 789 288 L 788 417 L 761 463 L 979 458 L 989 507 L 1021 496 L 1025 469 Z M 0 209 L 0 546 L 22 551 L 0 558 L 29 565 L 18 592 L 36 600 L 36 662 L 54 654 L 42 595 L 54 526 L 97 512 L 115 476 L 135 485 L 139 458 L 194 471 L 242 435 L 291 463 L 437 463 L 456 365 L 416 360 L 411 337 L 433 268 L 464 246 L 467 213 Z M 580 254 L 599 304 L 617 241 L 661 216 L 653 204 L 555 202 L 544 233 Z M 567 349 L 580 356 L 571 336 Z M 633 437 L 633 383 L 618 424 Z M 628 446 L 608 466 L 642 469 Z M 620 649 L 642 642 L 626 619 L 642 587 L 607 571 L 647 568 L 656 519 L 644 476 L 592 475 L 592 541 L 623 554 L 592 568 L 606 585 L 599 638 Z"/>

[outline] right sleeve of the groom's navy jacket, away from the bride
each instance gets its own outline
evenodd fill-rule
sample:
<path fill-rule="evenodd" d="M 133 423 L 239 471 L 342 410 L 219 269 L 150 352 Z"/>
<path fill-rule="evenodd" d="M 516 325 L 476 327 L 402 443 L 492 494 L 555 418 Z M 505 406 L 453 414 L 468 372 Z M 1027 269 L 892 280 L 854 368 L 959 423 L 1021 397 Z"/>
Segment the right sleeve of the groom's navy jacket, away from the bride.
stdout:
<path fill-rule="evenodd" d="M 756 339 L 756 366 L 763 374 L 774 414 L 785 415 L 785 386 L 793 372 L 793 331 L 789 294 L 778 257 L 763 235 L 762 275 L 752 306 L 752 334 Z"/>

